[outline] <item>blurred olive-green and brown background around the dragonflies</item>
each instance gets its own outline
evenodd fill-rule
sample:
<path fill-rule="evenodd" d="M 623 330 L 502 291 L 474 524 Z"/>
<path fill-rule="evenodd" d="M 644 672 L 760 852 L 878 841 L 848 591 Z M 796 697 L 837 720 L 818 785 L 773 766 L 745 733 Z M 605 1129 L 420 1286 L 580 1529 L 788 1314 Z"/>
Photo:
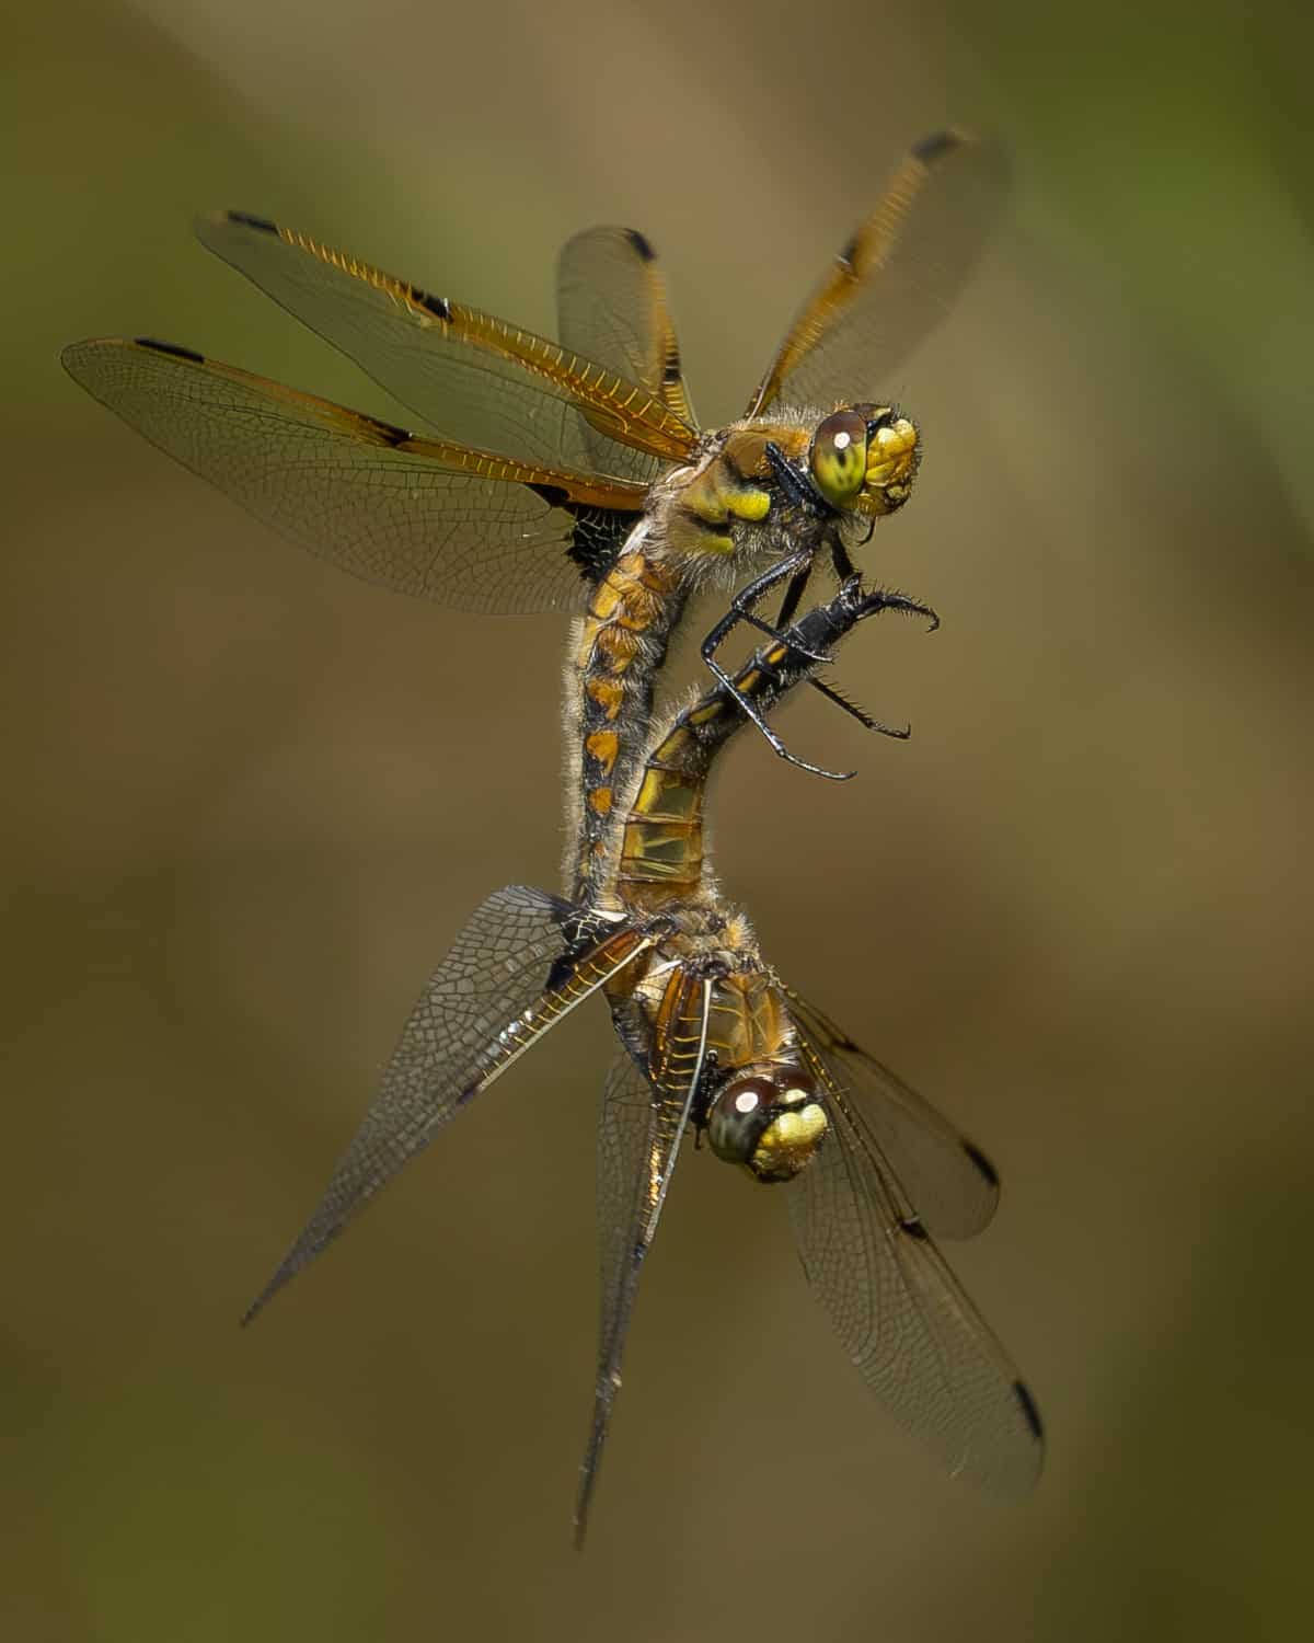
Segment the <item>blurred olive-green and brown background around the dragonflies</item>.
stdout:
<path fill-rule="evenodd" d="M 0 1631 L 1237 1638 L 1307 1627 L 1306 8 L 69 0 L 7 23 Z M 915 136 L 1018 192 L 882 384 L 923 421 L 872 570 L 944 626 L 742 741 L 719 864 L 767 955 L 995 1157 L 954 1254 L 1051 1461 L 999 1508 L 871 1405 L 772 1194 L 688 1157 L 590 1546 L 601 1009 L 258 1329 L 466 912 L 554 886 L 552 618 L 286 549 L 80 396 L 145 332 L 381 411 L 207 258 L 286 219 L 531 325 L 588 222 L 664 255 L 737 411 Z M 685 674 L 691 669 L 685 659 Z M 800 1438 L 775 1410 L 803 1398 Z"/>

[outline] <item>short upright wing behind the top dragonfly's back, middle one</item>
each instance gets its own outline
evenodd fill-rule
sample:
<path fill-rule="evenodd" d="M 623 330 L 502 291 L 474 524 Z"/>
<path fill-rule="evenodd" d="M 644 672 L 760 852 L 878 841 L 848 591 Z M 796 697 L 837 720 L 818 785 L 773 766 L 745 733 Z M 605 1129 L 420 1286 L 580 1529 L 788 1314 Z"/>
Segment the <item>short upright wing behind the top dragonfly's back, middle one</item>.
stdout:
<path fill-rule="evenodd" d="M 665 279 L 637 228 L 585 228 L 567 240 L 557 258 L 557 335 L 572 353 L 641 383 L 693 426 Z M 647 483 L 660 467 L 642 452 L 618 452 L 586 422 L 585 444 L 593 467 L 627 480 Z"/>

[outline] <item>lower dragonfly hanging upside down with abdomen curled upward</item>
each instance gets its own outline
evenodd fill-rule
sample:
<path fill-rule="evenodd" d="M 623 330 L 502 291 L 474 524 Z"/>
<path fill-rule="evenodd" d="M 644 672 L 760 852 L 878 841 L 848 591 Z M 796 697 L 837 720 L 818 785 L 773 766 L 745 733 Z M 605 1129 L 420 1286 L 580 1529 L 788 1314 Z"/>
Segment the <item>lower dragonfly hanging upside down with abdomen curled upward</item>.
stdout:
<path fill-rule="evenodd" d="M 846 578 L 733 677 L 650 734 L 613 817 L 616 871 L 572 904 L 524 886 L 475 912 L 434 971 L 328 1188 L 246 1319 L 552 1027 L 601 994 L 619 1040 L 598 1127 L 601 1328 L 575 1508 L 583 1544 L 639 1275 L 688 1135 L 788 1199 L 803 1268 L 866 1383 L 944 1466 L 1030 1489 L 1036 1401 L 940 1254 L 990 1221 L 986 1155 L 765 963 L 710 872 L 713 762 L 880 611 L 921 613 Z M 596 887 L 595 887 L 596 889 Z"/>

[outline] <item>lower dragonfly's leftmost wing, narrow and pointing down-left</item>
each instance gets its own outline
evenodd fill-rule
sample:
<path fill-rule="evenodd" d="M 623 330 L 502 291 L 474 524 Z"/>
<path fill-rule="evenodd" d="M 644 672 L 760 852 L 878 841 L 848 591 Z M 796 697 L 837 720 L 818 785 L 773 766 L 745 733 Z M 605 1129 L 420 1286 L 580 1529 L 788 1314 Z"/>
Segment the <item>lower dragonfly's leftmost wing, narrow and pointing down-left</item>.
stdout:
<path fill-rule="evenodd" d="M 448 1119 L 649 946 L 619 925 L 570 951 L 570 907 L 512 884 L 489 895 L 429 978 L 314 1216 L 243 1318 L 315 1259 Z"/>

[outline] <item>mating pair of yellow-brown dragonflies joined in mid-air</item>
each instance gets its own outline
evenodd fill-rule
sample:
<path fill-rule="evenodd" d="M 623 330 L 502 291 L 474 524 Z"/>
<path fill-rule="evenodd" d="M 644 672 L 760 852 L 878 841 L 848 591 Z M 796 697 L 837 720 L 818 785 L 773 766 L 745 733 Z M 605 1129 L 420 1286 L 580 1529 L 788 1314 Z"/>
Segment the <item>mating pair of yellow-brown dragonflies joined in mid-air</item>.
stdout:
<path fill-rule="evenodd" d="M 787 989 L 708 871 L 719 748 L 808 682 L 859 621 L 921 611 L 867 591 L 852 552 L 900 508 L 918 430 L 871 393 L 940 317 L 1004 191 L 997 148 L 918 145 L 785 337 L 746 416 L 695 424 L 655 256 L 596 228 L 558 263 L 550 342 L 238 212 L 202 242 L 424 419 L 412 432 L 146 340 L 64 352 L 156 445 L 343 568 L 471 611 L 577 613 L 567 669 L 567 895 L 489 897 L 430 978 L 328 1190 L 248 1316 L 437 1130 L 595 992 L 619 1058 L 600 1122 L 603 1319 L 577 1503 L 583 1536 L 639 1273 L 693 1130 L 787 1183 L 803 1267 L 864 1378 L 956 1474 L 1035 1482 L 1035 1401 L 940 1255 L 994 1213 L 984 1155 Z M 848 398 L 846 398 L 848 396 Z M 797 616 L 818 562 L 838 593 Z M 691 596 L 751 580 L 703 641 L 716 685 L 654 729 Z M 759 608 L 782 590 L 774 621 Z M 797 619 L 795 619 L 797 618 Z M 734 626 L 769 642 L 729 674 Z M 810 771 L 816 766 L 805 764 Z M 838 772 L 820 771 L 834 775 Z"/>

